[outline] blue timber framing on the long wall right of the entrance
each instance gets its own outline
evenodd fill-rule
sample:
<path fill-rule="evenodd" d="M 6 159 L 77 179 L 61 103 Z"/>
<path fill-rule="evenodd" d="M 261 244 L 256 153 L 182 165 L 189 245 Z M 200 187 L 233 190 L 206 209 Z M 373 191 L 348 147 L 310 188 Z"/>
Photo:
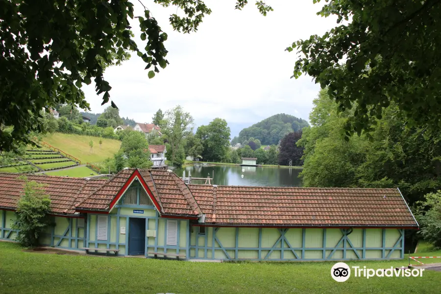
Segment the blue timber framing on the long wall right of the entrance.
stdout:
<path fill-rule="evenodd" d="M 337 244 L 334 247 L 326 247 L 326 228 L 323 228 L 323 243 L 322 247 L 306 247 L 305 246 L 305 235 L 306 235 L 306 228 L 302 229 L 302 247 L 293 247 L 289 243 L 289 241 L 285 238 L 285 233 L 289 230 L 289 228 L 279 228 L 278 231 L 280 233 L 280 237 L 277 239 L 277 241 L 272 245 L 272 247 L 262 247 L 262 228 L 259 228 L 259 240 L 258 240 L 258 247 L 239 247 L 239 227 L 236 227 L 236 240 L 235 240 L 235 246 L 234 247 L 224 247 L 221 243 L 221 241 L 216 236 L 216 232 L 220 229 L 220 227 L 213 227 L 213 234 L 212 234 L 212 246 L 208 247 L 208 233 L 207 231 L 205 234 L 198 234 L 196 232 L 196 244 L 191 245 L 190 249 L 195 249 L 195 256 L 191 256 L 190 259 L 207 259 L 207 260 L 219 260 L 217 258 L 214 258 L 215 256 L 215 250 L 222 250 L 225 254 L 226 258 L 221 260 L 250 260 L 250 261 L 336 261 L 336 260 L 351 260 L 353 258 L 347 258 L 346 252 L 347 251 L 353 251 L 355 255 L 357 256 L 356 260 L 381 260 L 381 259 L 389 259 L 392 253 L 395 250 L 400 250 L 400 258 L 404 258 L 404 229 L 398 229 L 400 232 L 400 236 L 398 240 L 395 242 L 394 246 L 392 247 L 386 247 L 386 229 L 382 230 L 382 247 L 366 247 L 366 228 L 363 229 L 363 246 L 362 247 L 354 247 L 352 245 L 352 242 L 348 238 L 348 236 L 352 233 L 352 229 L 341 229 L 342 237 L 337 242 Z M 199 246 L 198 238 L 205 238 L 204 246 Z M 284 242 L 288 247 L 284 246 Z M 216 247 L 216 243 L 219 244 L 219 247 Z M 280 244 L 280 247 L 278 245 Z M 339 247 L 342 245 L 342 247 Z M 204 250 L 204 256 L 199 257 L 199 250 Z M 209 258 L 207 255 L 207 250 L 211 250 L 212 257 Z M 235 257 L 231 257 L 228 254 L 227 250 L 231 250 L 235 252 Z M 258 258 L 238 258 L 238 252 L 240 250 L 257 250 L 258 251 Z M 262 251 L 268 251 L 269 252 L 262 256 Z M 305 251 L 308 250 L 320 250 L 322 251 L 322 258 L 305 258 Z M 343 258 L 333 258 L 336 251 L 343 251 Z M 360 250 L 362 254 L 358 252 Z M 366 250 L 382 250 L 382 258 L 366 258 Z M 389 250 L 389 253 L 385 255 L 385 252 Z M 280 259 L 270 259 L 270 255 L 273 251 L 280 251 Z M 292 251 L 295 258 L 291 259 L 285 259 L 284 258 L 284 251 Z M 301 255 L 297 254 L 295 251 L 301 251 Z M 326 254 L 326 251 L 331 251 L 329 254 Z"/>

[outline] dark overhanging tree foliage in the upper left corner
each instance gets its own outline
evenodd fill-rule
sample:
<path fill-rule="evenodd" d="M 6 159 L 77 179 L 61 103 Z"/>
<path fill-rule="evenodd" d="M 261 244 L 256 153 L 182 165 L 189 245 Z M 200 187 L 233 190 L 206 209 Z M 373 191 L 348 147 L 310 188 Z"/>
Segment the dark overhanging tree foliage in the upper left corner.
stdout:
<path fill-rule="evenodd" d="M 108 66 L 121 64 L 130 52 L 146 63 L 148 77 L 169 64 L 166 59 L 163 32 L 145 7 L 143 16 L 136 16 L 141 30 L 142 46 L 134 41 L 129 19 L 133 19 L 133 1 L 1 1 L 0 20 L 0 125 L 12 127 L 0 132 L 0 150 L 17 149 L 29 144 L 31 132 L 44 132 L 40 125 L 42 108 L 61 103 L 89 109 L 81 91 L 82 82 L 94 79 L 102 103 L 109 101 L 111 86 L 103 73 Z M 60 2 L 60 3 L 61 3 Z M 155 0 L 165 7 L 175 5 L 179 15 L 169 21 L 173 29 L 197 31 L 206 15 L 211 14 L 202 0 Z M 238 0 L 236 8 L 246 0 Z M 257 1 L 266 15 L 272 8 Z M 147 41 L 147 44 L 146 44 Z M 144 48 L 144 49 L 143 49 Z"/>

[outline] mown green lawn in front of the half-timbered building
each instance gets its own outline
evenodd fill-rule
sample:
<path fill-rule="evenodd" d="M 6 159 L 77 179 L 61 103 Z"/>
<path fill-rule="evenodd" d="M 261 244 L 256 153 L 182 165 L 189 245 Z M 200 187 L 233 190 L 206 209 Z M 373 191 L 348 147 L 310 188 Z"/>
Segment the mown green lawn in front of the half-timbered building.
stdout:
<path fill-rule="evenodd" d="M 9 293 L 439 293 L 441 272 L 422 277 L 331 278 L 334 262 L 198 263 L 24 252 L 0 242 L 0 292 Z M 407 260 L 348 262 L 390 268 Z"/>

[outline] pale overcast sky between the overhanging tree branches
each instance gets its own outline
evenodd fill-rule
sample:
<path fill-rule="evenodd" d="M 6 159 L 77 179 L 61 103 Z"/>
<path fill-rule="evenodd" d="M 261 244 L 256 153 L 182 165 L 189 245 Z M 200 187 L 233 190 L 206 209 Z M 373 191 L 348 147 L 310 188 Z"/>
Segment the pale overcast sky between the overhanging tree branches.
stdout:
<path fill-rule="evenodd" d="M 135 16 L 144 16 L 142 5 L 132 2 Z M 180 104 L 193 115 L 196 127 L 216 117 L 225 119 L 231 138 L 277 113 L 308 120 L 319 85 L 309 76 L 290 79 L 297 54 L 285 49 L 293 41 L 336 26 L 336 18 L 316 15 L 322 3 L 268 0 L 274 11 L 264 17 L 253 1 L 239 11 L 234 9 L 235 0 L 206 0 L 213 12 L 191 34 L 173 31 L 168 19 L 176 13 L 175 6 L 164 8 L 151 0 L 143 3 L 168 34 L 165 46 L 170 65 L 148 79 L 144 62 L 132 54 L 123 65 L 106 70 L 104 78 L 112 86 L 110 98 L 121 116 L 150 123 L 159 108 L 165 111 Z M 178 15 L 183 12 L 178 10 Z M 137 19 L 132 21 L 132 30 L 144 48 L 138 24 Z M 100 105 L 93 84 L 82 89 L 91 112 L 102 112 L 110 105 Z"/>

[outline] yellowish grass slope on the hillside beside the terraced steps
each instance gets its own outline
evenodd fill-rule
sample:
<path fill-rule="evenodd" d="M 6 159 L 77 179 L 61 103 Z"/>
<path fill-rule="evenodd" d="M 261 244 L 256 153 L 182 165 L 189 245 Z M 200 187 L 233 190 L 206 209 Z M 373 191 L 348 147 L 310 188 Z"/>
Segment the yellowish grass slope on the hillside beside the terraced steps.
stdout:
<path fill-rule="evenodd" d="M 107 157 L 112 157 L 118 152 L 121 145 L 121 141 L 118 140 L 62 133 L 50 134 L 42 140 L 78 158 L 82 164 L 101 162 Z M 90 152 L 89 147 L 91 140 L 94 142 L 93 152 Z M 99 149 L 99 140 L 102 140 L 101 149 Z"/>

